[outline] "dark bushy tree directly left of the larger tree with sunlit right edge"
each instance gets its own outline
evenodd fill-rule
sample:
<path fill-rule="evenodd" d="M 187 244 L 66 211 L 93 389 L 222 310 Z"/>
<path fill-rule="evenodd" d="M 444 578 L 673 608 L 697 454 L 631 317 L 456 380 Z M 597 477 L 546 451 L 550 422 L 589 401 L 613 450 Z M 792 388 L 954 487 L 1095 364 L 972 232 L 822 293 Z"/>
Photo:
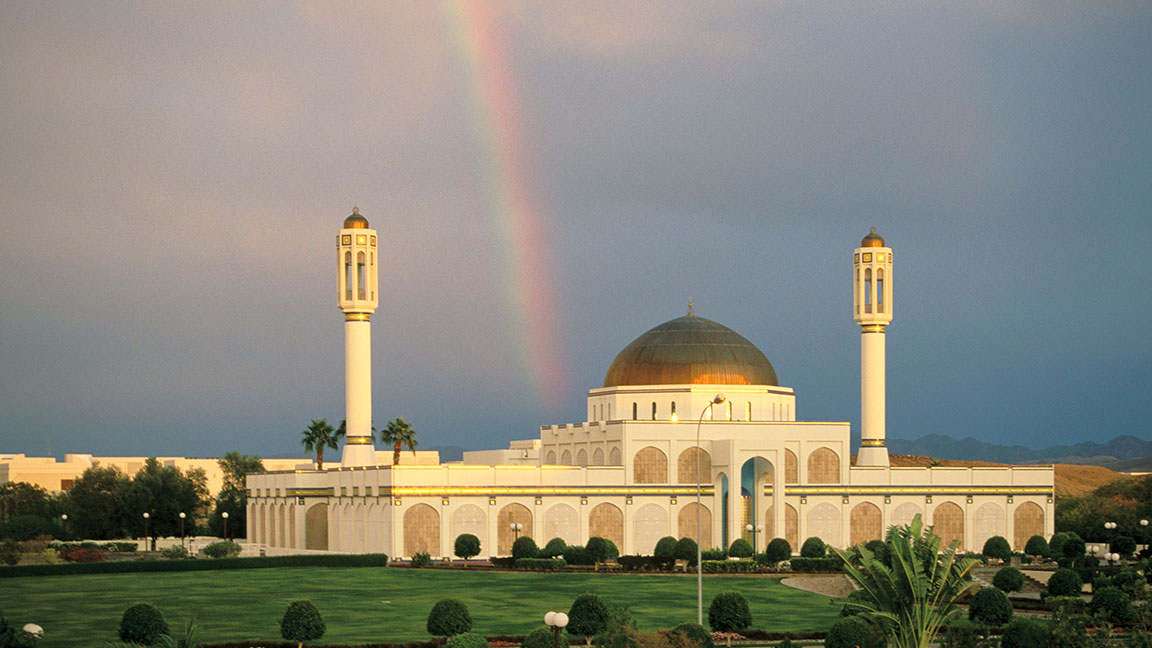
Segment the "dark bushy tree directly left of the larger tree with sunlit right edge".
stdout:
<path fill-rule="evenodd" d="M 79 537 L 108 540 L 124 535 L 124 497 L 131 479 L 115 466 L 92 466 L 67 491 L 68 526 Z"/>

